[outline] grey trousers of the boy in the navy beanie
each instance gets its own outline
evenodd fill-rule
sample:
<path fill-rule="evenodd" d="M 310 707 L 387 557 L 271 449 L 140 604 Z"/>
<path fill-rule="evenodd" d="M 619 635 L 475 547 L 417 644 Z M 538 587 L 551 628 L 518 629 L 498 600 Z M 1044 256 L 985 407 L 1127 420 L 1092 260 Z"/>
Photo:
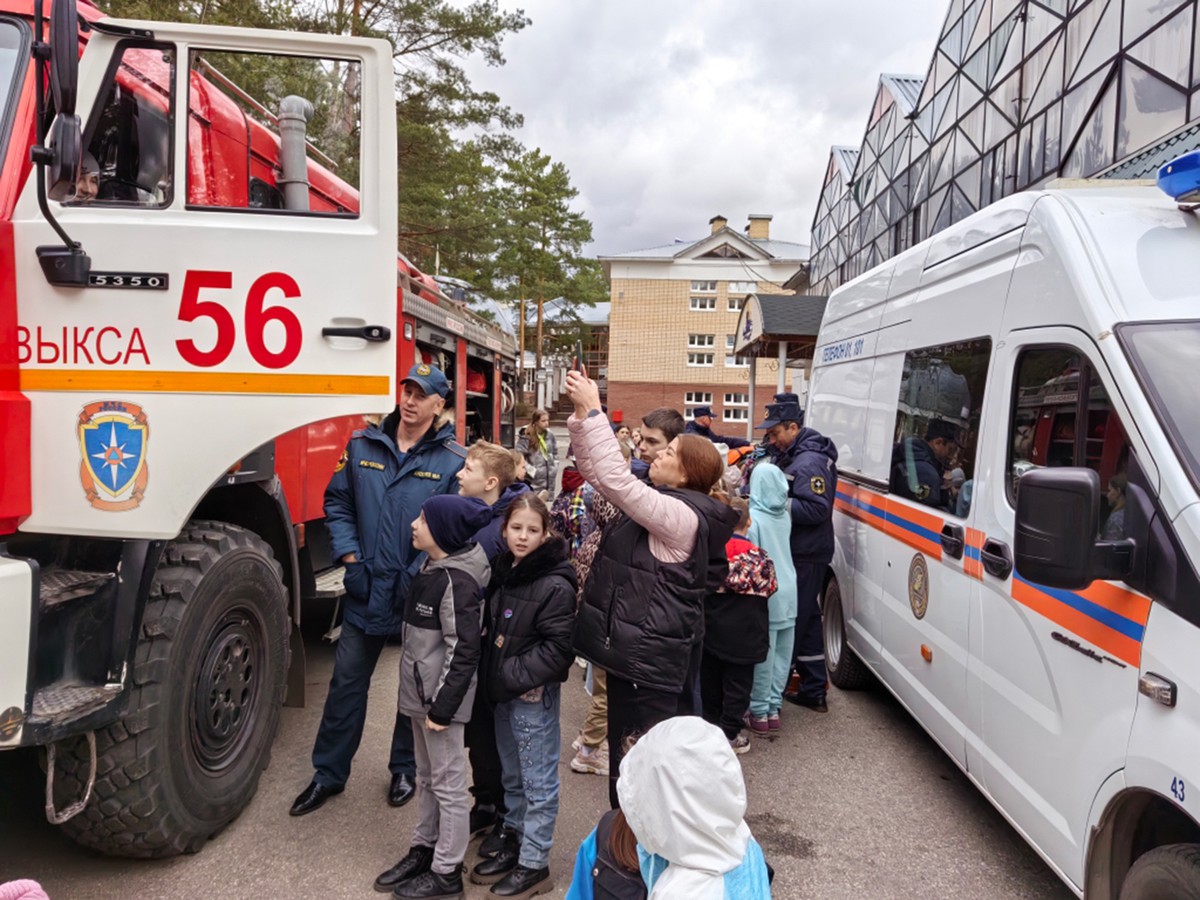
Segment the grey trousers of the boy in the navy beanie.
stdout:
<path fill-rule="evenodd" d="M 470 792 L 462 725 L 430 731 L 413 722 L 416 751 L 416 829 L 413 844 L 433 847 L 433 871 L 458 871 L 470 841 Z"/>

